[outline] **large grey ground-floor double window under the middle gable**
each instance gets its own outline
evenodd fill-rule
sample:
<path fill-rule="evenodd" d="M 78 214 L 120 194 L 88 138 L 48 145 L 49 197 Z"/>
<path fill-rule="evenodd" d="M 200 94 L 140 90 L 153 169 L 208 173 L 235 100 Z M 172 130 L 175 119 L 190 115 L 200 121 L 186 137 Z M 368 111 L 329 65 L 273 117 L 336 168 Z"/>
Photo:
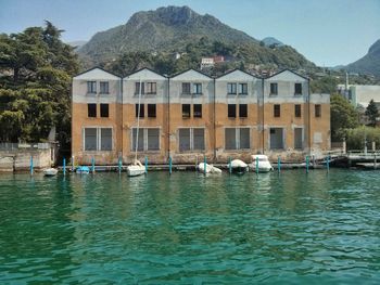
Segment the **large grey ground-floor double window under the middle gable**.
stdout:
<path fill-rule="evenodd" d="M 179 151 L 204 151 L 204 129 L 186 128 L 178 129 Z"/>

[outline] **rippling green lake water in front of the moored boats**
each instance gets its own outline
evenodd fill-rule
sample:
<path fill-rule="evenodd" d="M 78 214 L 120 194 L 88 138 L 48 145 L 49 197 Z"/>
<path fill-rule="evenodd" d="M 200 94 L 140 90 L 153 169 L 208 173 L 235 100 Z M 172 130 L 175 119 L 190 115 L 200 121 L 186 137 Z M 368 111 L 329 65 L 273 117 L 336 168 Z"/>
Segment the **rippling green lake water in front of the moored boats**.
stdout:
<path fill-rule="evenodd" d="M 380 284 L 379 172 L 0 176 L 0 284 Z"/>

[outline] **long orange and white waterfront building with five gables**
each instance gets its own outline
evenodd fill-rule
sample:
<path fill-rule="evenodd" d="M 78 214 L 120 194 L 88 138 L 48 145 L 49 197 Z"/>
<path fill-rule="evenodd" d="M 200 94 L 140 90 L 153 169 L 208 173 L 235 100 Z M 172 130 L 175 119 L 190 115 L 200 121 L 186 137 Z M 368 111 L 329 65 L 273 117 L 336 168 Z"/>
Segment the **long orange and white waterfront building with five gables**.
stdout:
<path fill-rule="evenodd" d="M 318 155 L 330 148 L 330 96 L 308 86 L 288 69 L 268 78 L 239 69 L 168 78 L 143 68 L 119 78 L 93 68 L 73 78 L 72 153 L 99 165 L 128 164 L 136 150 L 152 164 Z"/>

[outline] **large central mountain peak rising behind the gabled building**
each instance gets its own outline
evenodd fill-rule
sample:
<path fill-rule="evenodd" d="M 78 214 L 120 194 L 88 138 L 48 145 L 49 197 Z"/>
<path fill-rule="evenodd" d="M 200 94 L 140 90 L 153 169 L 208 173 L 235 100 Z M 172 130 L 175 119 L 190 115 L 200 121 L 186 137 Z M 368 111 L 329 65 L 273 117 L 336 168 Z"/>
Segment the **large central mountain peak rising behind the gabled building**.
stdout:
<path fill-rule="evenodd" d="M 190 54 L 192 60 L 197 56 L 197 61 L 200 61 L 200 56 L 216 55 L 215 51 L 213 54 L 207 49 L 197 53 L 189 48 L 202 46 L 198 44 L 202 40 L 231 51 L 221 55 L 249 64 L 289 68 L 315 66 L 290 46 L 263 47 L 245 33 L 227 26 L 212 15 L 200 15 L 188 7 L 166 7 L 135 13 L 125 25 L 97 33 L 78 50 L 78 54 L 90 65 L 115 62 L 119 55 L 128 52 L 144 51 L 161 55 L 180 52 Z"/>

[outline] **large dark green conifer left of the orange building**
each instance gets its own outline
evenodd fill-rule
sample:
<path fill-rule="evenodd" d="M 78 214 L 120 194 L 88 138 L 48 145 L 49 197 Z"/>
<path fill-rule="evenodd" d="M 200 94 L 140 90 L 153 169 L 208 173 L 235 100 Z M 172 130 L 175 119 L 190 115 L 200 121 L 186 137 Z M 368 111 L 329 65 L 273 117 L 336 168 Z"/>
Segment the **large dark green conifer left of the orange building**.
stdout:
<path fill-rule="evenodd" d="M 69 138 L 71 78 L 79 62 L 61 34 L 46 22 L 45 27 L 0 35 L 1 141 L 45 141 L 52 126 L 65 134 L 61 138 Z"/>

